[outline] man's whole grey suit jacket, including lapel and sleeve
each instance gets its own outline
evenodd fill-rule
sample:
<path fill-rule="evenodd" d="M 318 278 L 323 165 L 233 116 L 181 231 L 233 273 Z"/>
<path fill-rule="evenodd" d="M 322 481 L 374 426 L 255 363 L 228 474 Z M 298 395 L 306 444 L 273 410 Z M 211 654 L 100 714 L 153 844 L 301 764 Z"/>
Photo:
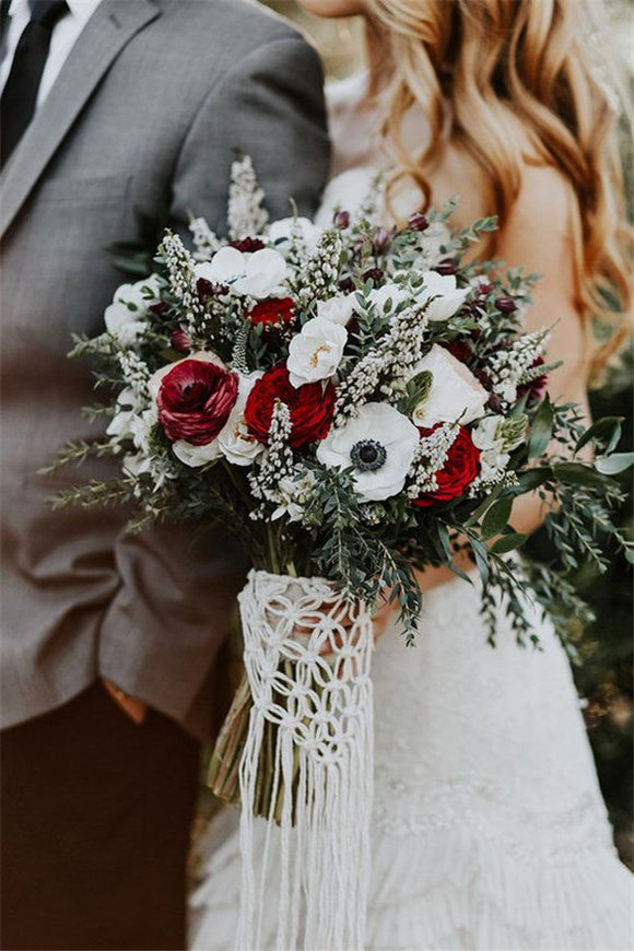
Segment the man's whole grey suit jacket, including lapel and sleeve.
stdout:
<path fill-rule="evenodd" d="M 222 232 L 236 148 L 273 216 L 289 196 L 313 212 L 329 157 L 321 79 L 297 33 L 242 0 L 103 0 L 4 168 L 4 726 L 104 676 L 208 732 L 243 561 L 220 535 L 203 553 L 173 532 L 126 537 L 116 506 L 54 512 L 47 495 L 97 470 L 38 469 L 99 432 L 80 413 L 90 369 L 66 354 L 72 331 L 102 330 L 125 280 L 104 246 L 139 236 L 136 207 L 177 225 L 191 209 Z"/>

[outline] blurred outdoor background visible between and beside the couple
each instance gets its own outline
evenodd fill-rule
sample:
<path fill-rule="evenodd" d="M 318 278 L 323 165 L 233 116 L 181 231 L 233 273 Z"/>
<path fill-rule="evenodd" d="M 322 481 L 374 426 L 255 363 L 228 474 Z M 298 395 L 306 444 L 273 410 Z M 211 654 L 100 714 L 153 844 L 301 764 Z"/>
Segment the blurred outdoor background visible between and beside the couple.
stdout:
<path fill-rule="evenodd" d="M 313 38 L 324 58 L 328 78 L 348 75 L 363 64 L 363 28 L 357 20 L 318 20 L 301 11 L 294 0 L 262 2 L 294 20 Z M 632 2 L 612 0 L 609 7 L 612 17 L 610 55 L 619 49 L 626 70 L 630 57 L 629 75 L 632 77 Z M 623 161 L 631 183 L 632 141 L 627 124 L 623 125 Z M 629 191 L 632 199 L 632 188 Z M 601 388 L 591 394 L 596 416 L 625 418 L 622 451 L 632 449 L 632 366 L 630 352 L 610 371 Z M 622 478 L 630 485 L 630 474 L 625 473 Z M 632 501 L 621 510 L 619 521 L 632 532 Z M 549 556 L 548 542 L 540 533 L 532 540 L 530 554 L 537 559 Z M 575 583 L 599 619 L 584 627 L 576 618 L 571 618 L 571 642 L 578 653 L 575 679 L 603 795 L 614 825 L 617 845 L 622 858 L 634 867 L 632 578 L 624 561 L 619 560 L 602 576 L 582 567 Z"/>

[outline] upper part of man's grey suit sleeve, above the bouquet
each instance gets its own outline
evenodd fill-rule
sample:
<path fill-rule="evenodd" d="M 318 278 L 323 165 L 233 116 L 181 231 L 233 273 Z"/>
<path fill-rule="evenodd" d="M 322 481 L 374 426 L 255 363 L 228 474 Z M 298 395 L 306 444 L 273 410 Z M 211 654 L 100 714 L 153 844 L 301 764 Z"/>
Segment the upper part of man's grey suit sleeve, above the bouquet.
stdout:
<path fill-rule="evenodd" d="M 271 218 L 316 211 L 329 171 L 322 70 L 298 35 L 273 39 L 237 63 L 202 103 L 183 144 L 172 213 L 191 210 L 226 233 L 235 150 L 251 156 Z"/>

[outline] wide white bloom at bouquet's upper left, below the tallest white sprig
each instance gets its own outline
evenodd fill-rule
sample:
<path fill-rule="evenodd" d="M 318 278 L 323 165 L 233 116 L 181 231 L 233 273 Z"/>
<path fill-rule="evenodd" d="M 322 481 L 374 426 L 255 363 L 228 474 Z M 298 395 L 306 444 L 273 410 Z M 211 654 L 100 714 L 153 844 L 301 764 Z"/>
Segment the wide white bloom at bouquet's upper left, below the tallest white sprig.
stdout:
<path fill-rule="evenodd" d="M 284 294 L 281 286 L 286 278 L 286 261 L 279 251 L 261 248 L 253 254 L 237 248 L 221 248 L 211 261 L 195 268 L 197 278 L 212 284 L 226 284 L 233 294 L 262 300 Z"/>

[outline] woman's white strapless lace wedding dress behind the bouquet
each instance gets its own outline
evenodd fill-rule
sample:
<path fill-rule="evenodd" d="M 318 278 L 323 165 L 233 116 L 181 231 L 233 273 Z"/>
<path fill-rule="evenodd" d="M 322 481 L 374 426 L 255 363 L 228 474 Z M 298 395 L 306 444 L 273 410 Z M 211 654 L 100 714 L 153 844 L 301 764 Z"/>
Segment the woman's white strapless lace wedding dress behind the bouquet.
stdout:
<path fill-rule="evenodd" d="M 350 113 L 350 89 L 342 90 Z M 344 119 L 345 141 L 363 141 L 362 130 L 351 134 L 353 115 L 340 109 L 334 118 Z M 337 122 L 334 134 L 337 146 Z M 340 157 L 340 167 L 364 164 Z M 357 203 L 371 174 L 338 177 L 326 203 Z M 425 596 L 414 648 L 396 625 L 376 646 L 366 947 L 625 951 L 634 937 L 631 876 L 612 844 L 567 659 L 528 603 L 543 649 L 519 648 L 503 610 L 490 647 L 472 578 Z M 199 844 L 195 951 L 234 947 L 236 829 L 226 812 Z M 263 840 L 263 823 L 259 831 Z M 274 947 L 275 884 L 263 948 Z"/>

